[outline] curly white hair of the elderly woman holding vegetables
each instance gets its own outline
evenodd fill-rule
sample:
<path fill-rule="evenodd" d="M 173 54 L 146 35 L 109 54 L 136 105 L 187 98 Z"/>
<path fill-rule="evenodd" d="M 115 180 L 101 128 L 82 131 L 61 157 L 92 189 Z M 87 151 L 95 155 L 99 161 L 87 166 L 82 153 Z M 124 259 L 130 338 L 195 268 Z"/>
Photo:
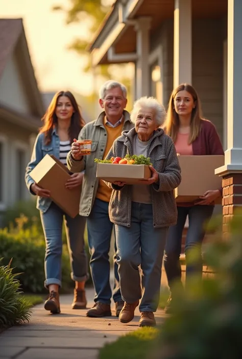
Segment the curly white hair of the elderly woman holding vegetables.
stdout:
<path fill-rule="evenodd" d="M 137 101 L 135 101 L 133 109 L 130 114 L 130 118 L 133 123 L 135 123 L 136 121 L 137 112 L 142 107 L 149 107 L 154 109 L 156 124 L 157 126 L 162 125 L 166 116 L 166 111 L 164 106 L 161 103 L 159 103 L 159 101 L 155 97 L 147 97 L 147 96 L 140 97 Z"/>

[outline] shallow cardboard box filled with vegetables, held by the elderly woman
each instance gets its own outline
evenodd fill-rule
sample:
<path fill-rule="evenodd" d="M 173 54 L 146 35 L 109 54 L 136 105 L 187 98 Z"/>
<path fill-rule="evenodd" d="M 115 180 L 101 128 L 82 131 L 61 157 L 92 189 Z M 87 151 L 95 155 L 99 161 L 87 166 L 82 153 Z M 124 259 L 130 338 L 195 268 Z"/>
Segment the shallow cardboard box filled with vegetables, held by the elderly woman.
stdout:
<path fill-rule="evenodd" d="M 139 180 L 151 178 L 151 170 L 146 164 L 98 163 L 96 177 L 111 183 L 142 184 Z"/>

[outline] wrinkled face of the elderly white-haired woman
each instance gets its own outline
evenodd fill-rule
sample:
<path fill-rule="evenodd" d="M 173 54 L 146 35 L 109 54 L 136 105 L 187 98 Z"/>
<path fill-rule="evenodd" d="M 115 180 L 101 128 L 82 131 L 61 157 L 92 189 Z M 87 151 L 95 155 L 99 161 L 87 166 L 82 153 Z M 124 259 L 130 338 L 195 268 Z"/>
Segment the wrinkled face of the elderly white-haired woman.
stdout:
<path fill-rule="evenodd" d="M 155 119 L 155 110 L 150 107 L 140 107 L 135 121 L 135 130 L 140 141 L 148 141 L 158 126 Z"/>

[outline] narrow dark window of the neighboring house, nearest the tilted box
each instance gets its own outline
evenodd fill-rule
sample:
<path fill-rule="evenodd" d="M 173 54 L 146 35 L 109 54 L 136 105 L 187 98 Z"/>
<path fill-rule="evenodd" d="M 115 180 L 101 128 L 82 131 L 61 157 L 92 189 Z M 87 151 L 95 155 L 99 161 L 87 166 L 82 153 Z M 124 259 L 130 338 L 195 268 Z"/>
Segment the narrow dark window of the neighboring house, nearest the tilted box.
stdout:
<path fill-rule="evenodd" d="M 16 200 L 25 198 L 25 151 L 16 149 Z"/>

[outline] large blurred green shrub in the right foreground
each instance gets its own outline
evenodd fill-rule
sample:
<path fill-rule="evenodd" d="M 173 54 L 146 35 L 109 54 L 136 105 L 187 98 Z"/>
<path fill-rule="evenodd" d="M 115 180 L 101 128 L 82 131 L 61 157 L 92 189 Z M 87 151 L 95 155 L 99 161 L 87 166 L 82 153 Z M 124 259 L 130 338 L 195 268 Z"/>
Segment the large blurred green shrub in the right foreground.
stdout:
<path fill-rule="evenodd" d="M 242 356 L 242 215 L 230 225 L 230 238 L 218 234 L 207 244 L 205 260 L 216 273 L 193 278 L 173 296 L 174 315 L 161 327 L 154 359 L 237 359 Z"/>

